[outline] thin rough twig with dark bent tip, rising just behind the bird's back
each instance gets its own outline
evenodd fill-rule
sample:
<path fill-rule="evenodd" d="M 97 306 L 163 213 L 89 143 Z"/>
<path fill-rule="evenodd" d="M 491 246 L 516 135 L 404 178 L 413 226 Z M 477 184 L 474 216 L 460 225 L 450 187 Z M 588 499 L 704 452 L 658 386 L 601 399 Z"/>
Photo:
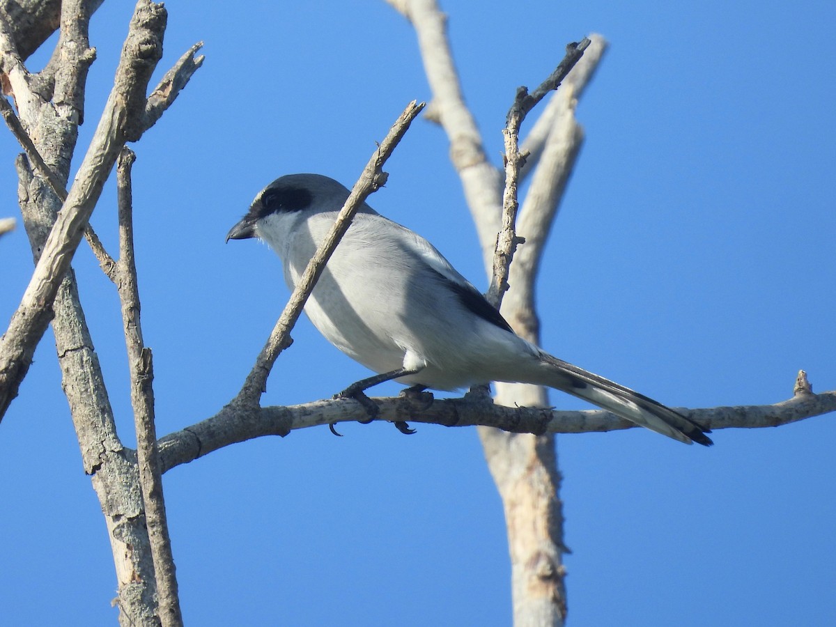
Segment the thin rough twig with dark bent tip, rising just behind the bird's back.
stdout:
<path fill-rule="evenodd" d="M 499 308 L 502 304 L 502 295 L 508 289 L 508 267 L 511 265 L 514 251 L 517 244 L 522 243 L 514 231 L 514 224 L 517 222 L 517 183 L 520 176 L 520 168 L 525 162 L 525 155 L 519 151 L 519 132 L 528 112 L 534 108 L 543 97 L 553 89 L 558 89 L 566 74 L 578 63 L 584 55 L 584 50 L 589 46 L 589 38 L 584 38 L 580 43 L 569 43 L 566 47 L 566 56 L 553 73 L 534 90 L 533 94 L 528 89 L 520 87 L 517 89 L 517 96 L 511 109 L 508 110 L 505 129 L 502 134 L 505 136 L 505 191 L 502 194 L 502 230 L 497 237 L 496 252 L 493 257 L 493 273 L 491 287 L 487 291 L 487 300 L 494 307 Z"/>

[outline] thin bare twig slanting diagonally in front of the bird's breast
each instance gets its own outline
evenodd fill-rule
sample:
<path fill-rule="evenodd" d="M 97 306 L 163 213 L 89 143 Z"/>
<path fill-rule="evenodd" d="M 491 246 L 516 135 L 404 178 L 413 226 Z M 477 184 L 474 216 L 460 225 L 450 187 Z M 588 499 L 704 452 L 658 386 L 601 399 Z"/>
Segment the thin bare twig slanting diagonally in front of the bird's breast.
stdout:
<path fill-rule="evenodd" d="M 392 125 L 385 139 L 380 142 L 377 150 L 371 155 L 359 180 L 354 183 L 351 194 L 340 210 L 334 226 L 331 227 L 316 254 L 308 263 L 308 267 L 305 268 L 302 278 L 299 279 L 293 289 L 288 304 L 273 328 L 273 333 L 270 334 L 267 344 L 264 345 L 258 355 L 256 364 L 252 367 L 250 374 L 247 375 L 247 380 L 235 400 L 232 401 L 232 405 L 257 405 L 278 355 L 293 341 L 290 339 L 290 331 L 302 314 L 304 304 L 314 290 L 314 285 L 316 285 L 319 275 L 324 270 L 325 264 L 328 263 L 331 253 L 334 252 L 339 240 L 348 230 L 354 214 L 359 210 L 365 199 L 384 185 L 387 175 L 382 171 L 383 164 L 389 159 L 392 151 L 395 150 L 395 146 L 409 130 L 412 120 L 415 120 L 424 106 L 424 103 L 416 104 L 415 100 L 407 105 L 404 112 L 395 120 L 395 124 Z"/>

